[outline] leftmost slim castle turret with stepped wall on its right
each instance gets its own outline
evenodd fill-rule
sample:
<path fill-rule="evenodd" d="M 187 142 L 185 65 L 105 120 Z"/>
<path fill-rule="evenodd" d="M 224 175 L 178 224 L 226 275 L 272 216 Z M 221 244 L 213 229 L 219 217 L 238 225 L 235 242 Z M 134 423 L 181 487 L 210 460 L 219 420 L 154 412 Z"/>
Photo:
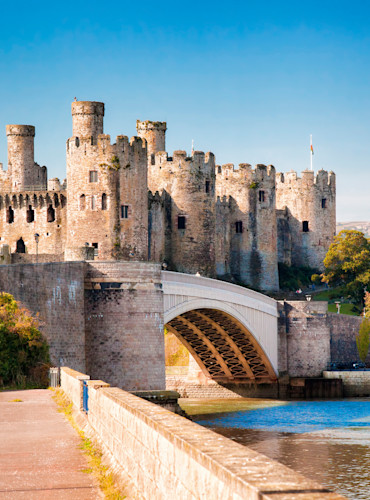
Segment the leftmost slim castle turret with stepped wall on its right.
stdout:
<path fill-rule="evenodd" d="M 46 167 L 39 167 L 34 160 L 35 127 L 32 125 L 7 125 L 8 176 L 11 190 L 46 189 Z"/>

